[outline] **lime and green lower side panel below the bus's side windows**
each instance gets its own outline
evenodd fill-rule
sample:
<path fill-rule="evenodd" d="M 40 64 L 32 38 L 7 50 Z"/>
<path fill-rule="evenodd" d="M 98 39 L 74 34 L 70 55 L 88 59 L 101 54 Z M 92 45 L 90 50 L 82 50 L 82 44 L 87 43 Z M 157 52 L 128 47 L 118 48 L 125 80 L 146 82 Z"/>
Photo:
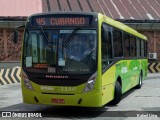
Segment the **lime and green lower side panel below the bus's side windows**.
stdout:
<path fill-rule="evenodd" d="M 146 59 L 120 60 L 103 73 L 102 104 L 104 105 L 114 99 L 115 82 L 118 77 L 122 81 L 122 94 L 138 85 L 141 70 L 145 74 L 146 63 Z"/>

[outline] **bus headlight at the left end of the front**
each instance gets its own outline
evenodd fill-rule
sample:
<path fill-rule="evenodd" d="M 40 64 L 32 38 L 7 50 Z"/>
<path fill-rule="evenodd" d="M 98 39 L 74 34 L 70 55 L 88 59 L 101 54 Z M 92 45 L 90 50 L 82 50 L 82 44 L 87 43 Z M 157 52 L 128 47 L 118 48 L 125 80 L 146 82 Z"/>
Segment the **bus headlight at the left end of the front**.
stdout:
<path fill-rule="evenodd" d="M 32 87 L 32 84 L 28 78 L 28 76 L 26 75 L 26 73 L 23 71 L 22 72 L 22 80 L 24 81 L 24 85 L 25 87 L 28 89 L 28 90 L 34 90 L 33 87 Z"/>

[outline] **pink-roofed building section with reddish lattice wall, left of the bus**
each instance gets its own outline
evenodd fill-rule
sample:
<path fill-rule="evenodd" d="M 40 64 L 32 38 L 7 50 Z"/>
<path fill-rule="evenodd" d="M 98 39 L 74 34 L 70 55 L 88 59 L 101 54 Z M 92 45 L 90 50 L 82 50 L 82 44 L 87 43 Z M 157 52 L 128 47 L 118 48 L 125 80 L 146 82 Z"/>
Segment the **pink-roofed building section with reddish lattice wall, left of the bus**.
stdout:
<path fill-rule="evenodd" d="M 42 12 L 40 0 L 0 1 L 0 61 L 20 61 L 23 29 L 18 44 L 13 43 L 13 28 L 24 25 L 27 17 Z"/>

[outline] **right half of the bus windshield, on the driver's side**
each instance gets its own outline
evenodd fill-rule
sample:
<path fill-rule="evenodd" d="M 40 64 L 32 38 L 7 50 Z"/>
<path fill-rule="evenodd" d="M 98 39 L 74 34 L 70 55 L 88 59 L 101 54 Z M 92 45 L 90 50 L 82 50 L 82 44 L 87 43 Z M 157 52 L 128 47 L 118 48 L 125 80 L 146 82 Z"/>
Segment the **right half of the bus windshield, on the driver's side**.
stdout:
<path fill-rule="evenodd" d="M 73 30 L 60 30 L 58 66 L 61 73 L 87 74 L 96 70 L 96 31 L 78 30 L 66 47 L 63 44 Z M 63 59 L 61 62 L 60 59 Z"/>

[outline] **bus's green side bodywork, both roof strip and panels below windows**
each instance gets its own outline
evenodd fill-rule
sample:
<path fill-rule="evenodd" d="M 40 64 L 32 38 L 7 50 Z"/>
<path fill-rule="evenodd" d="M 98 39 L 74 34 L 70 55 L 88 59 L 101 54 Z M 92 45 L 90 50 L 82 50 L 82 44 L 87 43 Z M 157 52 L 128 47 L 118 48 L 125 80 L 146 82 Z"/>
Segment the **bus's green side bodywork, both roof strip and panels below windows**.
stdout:
<path fill-rule="evenodd" d="M 147 40 L 145 36 L 139 34 L 137 31 L 106 16 L 102 17 L 101 24 L 102 22 Z M 147 75 L 147 59 L 129 57 L 125 60 L 124 57 L 114 58 L 113 63 L 106 69 L 102 74 L 102 105 L 114 99 L 115 82 L 118 77 L 121 79 L 122 94 L 139 84 L 141 70 L 143 77 Z"/>

